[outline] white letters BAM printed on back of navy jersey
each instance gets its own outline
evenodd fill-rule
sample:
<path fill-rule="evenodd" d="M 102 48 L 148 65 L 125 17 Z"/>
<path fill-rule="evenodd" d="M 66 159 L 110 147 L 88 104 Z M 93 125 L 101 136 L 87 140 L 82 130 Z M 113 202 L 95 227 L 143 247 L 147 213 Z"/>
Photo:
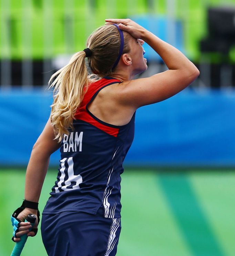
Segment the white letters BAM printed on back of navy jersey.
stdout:
<path fill-rule="evenodd" d="M 83 132 L 71 132 L 70 135 L 64 134 L 63 149 L 64 152 L 76 152 L 79 146 L 79 151 L 82 151 L 82 136 Z"/>

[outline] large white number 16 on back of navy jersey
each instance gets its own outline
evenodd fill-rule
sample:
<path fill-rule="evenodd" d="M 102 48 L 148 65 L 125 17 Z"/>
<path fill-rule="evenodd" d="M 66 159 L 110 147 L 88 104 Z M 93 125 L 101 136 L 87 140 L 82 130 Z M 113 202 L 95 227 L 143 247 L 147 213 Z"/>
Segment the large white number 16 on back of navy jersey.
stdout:
<path fill-rule="evenodd" d="M 71 189 L 78 189 L 79 184 L 82 183 L 82 176 L 80 174 L 78 175 L 74 175 L 74 171 L 73 171 L 73 158 L 69 157 L 67 160 L 68 163 L 68 179 L 65 180 L 65 161 L 67 160 L 67 158 L 63 158 L 60 160 L 61 162 L 61 168 L 60 168 L 60 172 L 61 172 L 61 176 L 60 176 L 60 180 L 57 183 L 57 187 L 55 187 L 55 193 L 60 192 L 59 188 L 61 188 L 63 191 L 68 191 Z M 64 185 L 62 185 L 62 183 L 64 182 Z M 75 182 L 75 184 L 71 187 L 71 182 Z M 70 186 L 70 188 L 68 188 Z"/>

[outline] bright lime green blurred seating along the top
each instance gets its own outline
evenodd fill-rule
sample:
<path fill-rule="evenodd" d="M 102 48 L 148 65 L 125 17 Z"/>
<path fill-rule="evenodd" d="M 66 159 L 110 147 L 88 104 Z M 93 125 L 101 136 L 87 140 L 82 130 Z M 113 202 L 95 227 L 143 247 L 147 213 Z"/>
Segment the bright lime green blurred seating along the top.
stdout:
<path fill-rule="evenodd" d="M 84 48 L 86 38 L 107 17 L 153 15 L 182 21 L 186 53 L 198 60 L 199 41 L 207 35 L 207 8 L 234 4 L 234 0 L 1 0 L 1 58 L 74 53 Z"/>

